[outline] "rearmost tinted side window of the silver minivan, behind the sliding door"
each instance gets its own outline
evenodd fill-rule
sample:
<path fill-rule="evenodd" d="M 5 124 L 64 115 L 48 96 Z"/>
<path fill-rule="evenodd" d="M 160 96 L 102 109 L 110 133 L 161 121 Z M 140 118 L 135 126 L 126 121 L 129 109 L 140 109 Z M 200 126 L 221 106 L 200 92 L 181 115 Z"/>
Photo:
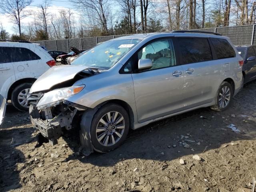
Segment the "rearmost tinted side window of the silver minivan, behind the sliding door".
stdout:
<path fill-rule="evenodd" d="M 210 38 L 218 59 L 235 57 L 236 52 L 226 39 Z"/>

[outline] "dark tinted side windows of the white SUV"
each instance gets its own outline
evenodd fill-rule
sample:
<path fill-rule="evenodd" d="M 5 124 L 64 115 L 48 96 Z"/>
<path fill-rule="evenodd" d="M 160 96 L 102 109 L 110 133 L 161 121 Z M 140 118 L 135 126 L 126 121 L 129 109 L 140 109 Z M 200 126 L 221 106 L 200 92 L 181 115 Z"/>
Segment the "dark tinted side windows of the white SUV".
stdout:
<path fill-rule="evenodd" d="M 37 54 L 22 47 L 0 47 L 0 63 L 21 62 L 41 59 Z"/>

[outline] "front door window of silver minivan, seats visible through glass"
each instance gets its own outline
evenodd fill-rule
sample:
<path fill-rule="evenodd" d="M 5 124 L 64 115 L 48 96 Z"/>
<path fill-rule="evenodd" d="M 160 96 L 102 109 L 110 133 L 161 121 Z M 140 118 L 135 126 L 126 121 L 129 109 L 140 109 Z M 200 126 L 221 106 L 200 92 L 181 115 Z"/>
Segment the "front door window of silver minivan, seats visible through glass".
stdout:
<path fill-rule="evenodd" d="M 153 63 L 151 70 L 176 65 L 172 40 L 151 42 L 138 51 L 137 57 L 138 60 L 150 59 Z"/>

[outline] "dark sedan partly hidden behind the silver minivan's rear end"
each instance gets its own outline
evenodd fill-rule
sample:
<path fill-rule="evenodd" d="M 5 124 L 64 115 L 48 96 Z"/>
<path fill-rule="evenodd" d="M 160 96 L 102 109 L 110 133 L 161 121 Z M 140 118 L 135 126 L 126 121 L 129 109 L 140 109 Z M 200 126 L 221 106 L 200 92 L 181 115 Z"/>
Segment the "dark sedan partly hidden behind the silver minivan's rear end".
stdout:
<path fill-rule="evenodd" d="M 242 68 L 244 84 L 256 79 L 256 46 L 236 46 L 240 56 L 244 59 Z"/>

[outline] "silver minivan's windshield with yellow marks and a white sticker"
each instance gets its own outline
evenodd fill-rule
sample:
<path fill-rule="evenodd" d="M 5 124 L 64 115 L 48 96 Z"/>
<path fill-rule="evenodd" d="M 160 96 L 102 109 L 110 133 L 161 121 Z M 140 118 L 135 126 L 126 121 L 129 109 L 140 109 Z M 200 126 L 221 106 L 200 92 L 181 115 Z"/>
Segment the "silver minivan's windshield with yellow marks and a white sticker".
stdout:
<path fill-rule="evenodd" d="M 107 41 L 88 50 L 71 64 L 109 69 L 139 42 L 139 39 Z"/>

